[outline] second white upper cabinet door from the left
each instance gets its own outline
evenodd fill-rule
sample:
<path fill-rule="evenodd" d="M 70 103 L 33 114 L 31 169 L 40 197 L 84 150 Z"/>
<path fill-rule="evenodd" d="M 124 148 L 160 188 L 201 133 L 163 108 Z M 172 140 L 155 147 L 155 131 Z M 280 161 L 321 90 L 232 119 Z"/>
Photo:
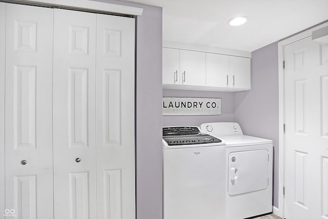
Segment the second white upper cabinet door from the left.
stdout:
<path fill-rule="evenodd" d="M 183 85 L 206 85 L 206 53 L 180 50 L 180 71 Z"/>

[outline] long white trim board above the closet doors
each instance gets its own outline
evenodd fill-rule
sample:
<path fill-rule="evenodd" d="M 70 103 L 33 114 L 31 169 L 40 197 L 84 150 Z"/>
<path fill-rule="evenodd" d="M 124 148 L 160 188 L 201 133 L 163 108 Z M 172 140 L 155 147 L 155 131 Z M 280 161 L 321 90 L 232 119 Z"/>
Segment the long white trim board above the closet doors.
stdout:
<path fill-rule="evenodd" d="M 65 7 L 82 11 L 110 12 L 117 14 L 142 15 L 143 8 L 116 5 L 92 0 L 14 0 L 3 1 L 11 4 L 44 5 L 48 7 Z"/>

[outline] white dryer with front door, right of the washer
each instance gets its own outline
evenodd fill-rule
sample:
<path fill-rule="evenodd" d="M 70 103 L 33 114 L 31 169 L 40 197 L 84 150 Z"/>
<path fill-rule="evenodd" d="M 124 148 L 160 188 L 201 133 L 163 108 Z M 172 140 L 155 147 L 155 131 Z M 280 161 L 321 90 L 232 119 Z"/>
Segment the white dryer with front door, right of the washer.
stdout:
<path fill-rule="evenodd" d="M 238 123 L 201 124 L 227 146 L 227 219 L 272 212 L 272 140 L 243 135 Z"/>

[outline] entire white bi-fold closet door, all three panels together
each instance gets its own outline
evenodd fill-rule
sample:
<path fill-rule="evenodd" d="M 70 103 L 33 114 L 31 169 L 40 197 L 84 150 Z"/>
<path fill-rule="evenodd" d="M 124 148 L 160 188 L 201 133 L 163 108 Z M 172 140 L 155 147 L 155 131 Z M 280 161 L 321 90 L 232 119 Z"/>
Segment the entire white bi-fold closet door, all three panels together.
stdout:
<path fill-rule="evenodd" d="M 5 208 L 16 218 L 134 218 L 134 19 L 0 7 Z"/>

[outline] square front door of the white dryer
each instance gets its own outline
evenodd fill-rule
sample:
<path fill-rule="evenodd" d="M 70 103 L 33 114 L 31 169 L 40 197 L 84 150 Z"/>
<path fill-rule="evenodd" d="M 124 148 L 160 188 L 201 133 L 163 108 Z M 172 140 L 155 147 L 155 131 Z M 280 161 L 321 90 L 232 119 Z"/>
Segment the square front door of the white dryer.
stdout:
<path fill-rule="evenodd" d="M 229 195 L 238 195 L 268 188 L 268 150 L 232 152 L 228 156 L 228 168 Z"/>

